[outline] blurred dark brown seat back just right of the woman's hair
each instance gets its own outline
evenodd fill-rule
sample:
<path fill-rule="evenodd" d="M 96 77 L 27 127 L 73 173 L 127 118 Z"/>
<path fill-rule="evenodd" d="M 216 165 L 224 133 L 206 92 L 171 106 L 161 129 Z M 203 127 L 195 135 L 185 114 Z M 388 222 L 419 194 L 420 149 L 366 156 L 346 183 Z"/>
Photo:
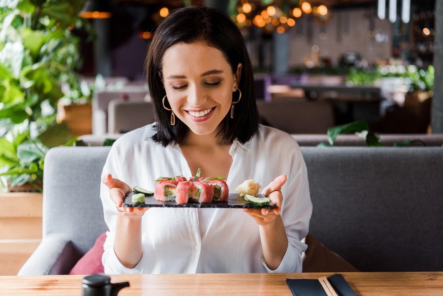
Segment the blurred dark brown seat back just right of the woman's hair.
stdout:
<path fill-rule="evenodd" d="M 265 125 L 288 134 L 326 134 L 334 125 L 334 113 L 328 102 L 308 100 L 257 101 Z"/>

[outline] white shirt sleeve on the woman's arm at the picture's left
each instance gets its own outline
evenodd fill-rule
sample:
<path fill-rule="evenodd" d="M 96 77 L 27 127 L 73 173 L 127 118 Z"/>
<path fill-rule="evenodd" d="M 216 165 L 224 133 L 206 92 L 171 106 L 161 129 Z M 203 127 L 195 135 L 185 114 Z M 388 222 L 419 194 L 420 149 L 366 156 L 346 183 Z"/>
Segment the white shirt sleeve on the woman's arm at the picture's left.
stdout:
<path fill-rule="evenodd" d="M 121 171 L 119 170 L 118 156 L 118 151 L 115 146 L 113 146 L 108 154 L 108 158 L 103 168 L 101 174 L 102 177 L 107 174 L 112 174 L 114 178 L 122 178 Z M 114 202 L 110 198 L 108 186 L 103 183 L 100 183 L 100 199 L 101 203 L 103 204 L 105 222 L 109 229 L 109 231 L 106 233 L 106 241 L 103 245 L 104 253 L 101 257 L 105 274 L 140 274 L 141 270 L 139 265 L 132 269 L 124 267 L 114 252 L 114 240 L 118 212 Z"/>

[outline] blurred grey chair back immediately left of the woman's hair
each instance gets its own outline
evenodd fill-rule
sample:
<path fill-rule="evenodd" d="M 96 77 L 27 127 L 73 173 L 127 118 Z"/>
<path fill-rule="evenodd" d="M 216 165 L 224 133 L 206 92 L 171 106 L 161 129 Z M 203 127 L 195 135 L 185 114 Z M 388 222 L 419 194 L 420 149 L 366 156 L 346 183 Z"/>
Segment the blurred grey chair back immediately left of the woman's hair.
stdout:
<path fill-rule="evenodd" d="M 112 100 L 108 107 L 108 133 L 122 134 L 154 122 L 151 102 Z"/>

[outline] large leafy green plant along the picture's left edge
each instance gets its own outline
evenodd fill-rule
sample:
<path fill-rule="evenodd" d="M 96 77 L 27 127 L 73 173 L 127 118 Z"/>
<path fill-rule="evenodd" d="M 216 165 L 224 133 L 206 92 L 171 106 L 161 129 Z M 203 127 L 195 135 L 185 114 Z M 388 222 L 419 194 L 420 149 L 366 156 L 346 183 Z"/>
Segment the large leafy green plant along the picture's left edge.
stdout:
<path fill-rule="evenodd" d="M 48 148 L 70 143 L 56 123 L 81 64 L 73 26 L 83 0 L 5 0 L 0 8 L 0 183 L 42 190 Z M 68 89 L 69 91 L 66 91 Z"/>

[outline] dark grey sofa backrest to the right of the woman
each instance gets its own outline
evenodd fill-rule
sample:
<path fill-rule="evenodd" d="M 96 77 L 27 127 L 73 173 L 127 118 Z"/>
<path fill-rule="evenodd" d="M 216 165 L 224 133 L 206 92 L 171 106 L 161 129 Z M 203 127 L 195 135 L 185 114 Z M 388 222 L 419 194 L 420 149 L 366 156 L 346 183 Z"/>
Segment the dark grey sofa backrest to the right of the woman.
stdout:
<path fill-rule="evenodd" d="M 301 151 L 315 238 L 360 271 L 443 270 L 443 148 Z"/>

